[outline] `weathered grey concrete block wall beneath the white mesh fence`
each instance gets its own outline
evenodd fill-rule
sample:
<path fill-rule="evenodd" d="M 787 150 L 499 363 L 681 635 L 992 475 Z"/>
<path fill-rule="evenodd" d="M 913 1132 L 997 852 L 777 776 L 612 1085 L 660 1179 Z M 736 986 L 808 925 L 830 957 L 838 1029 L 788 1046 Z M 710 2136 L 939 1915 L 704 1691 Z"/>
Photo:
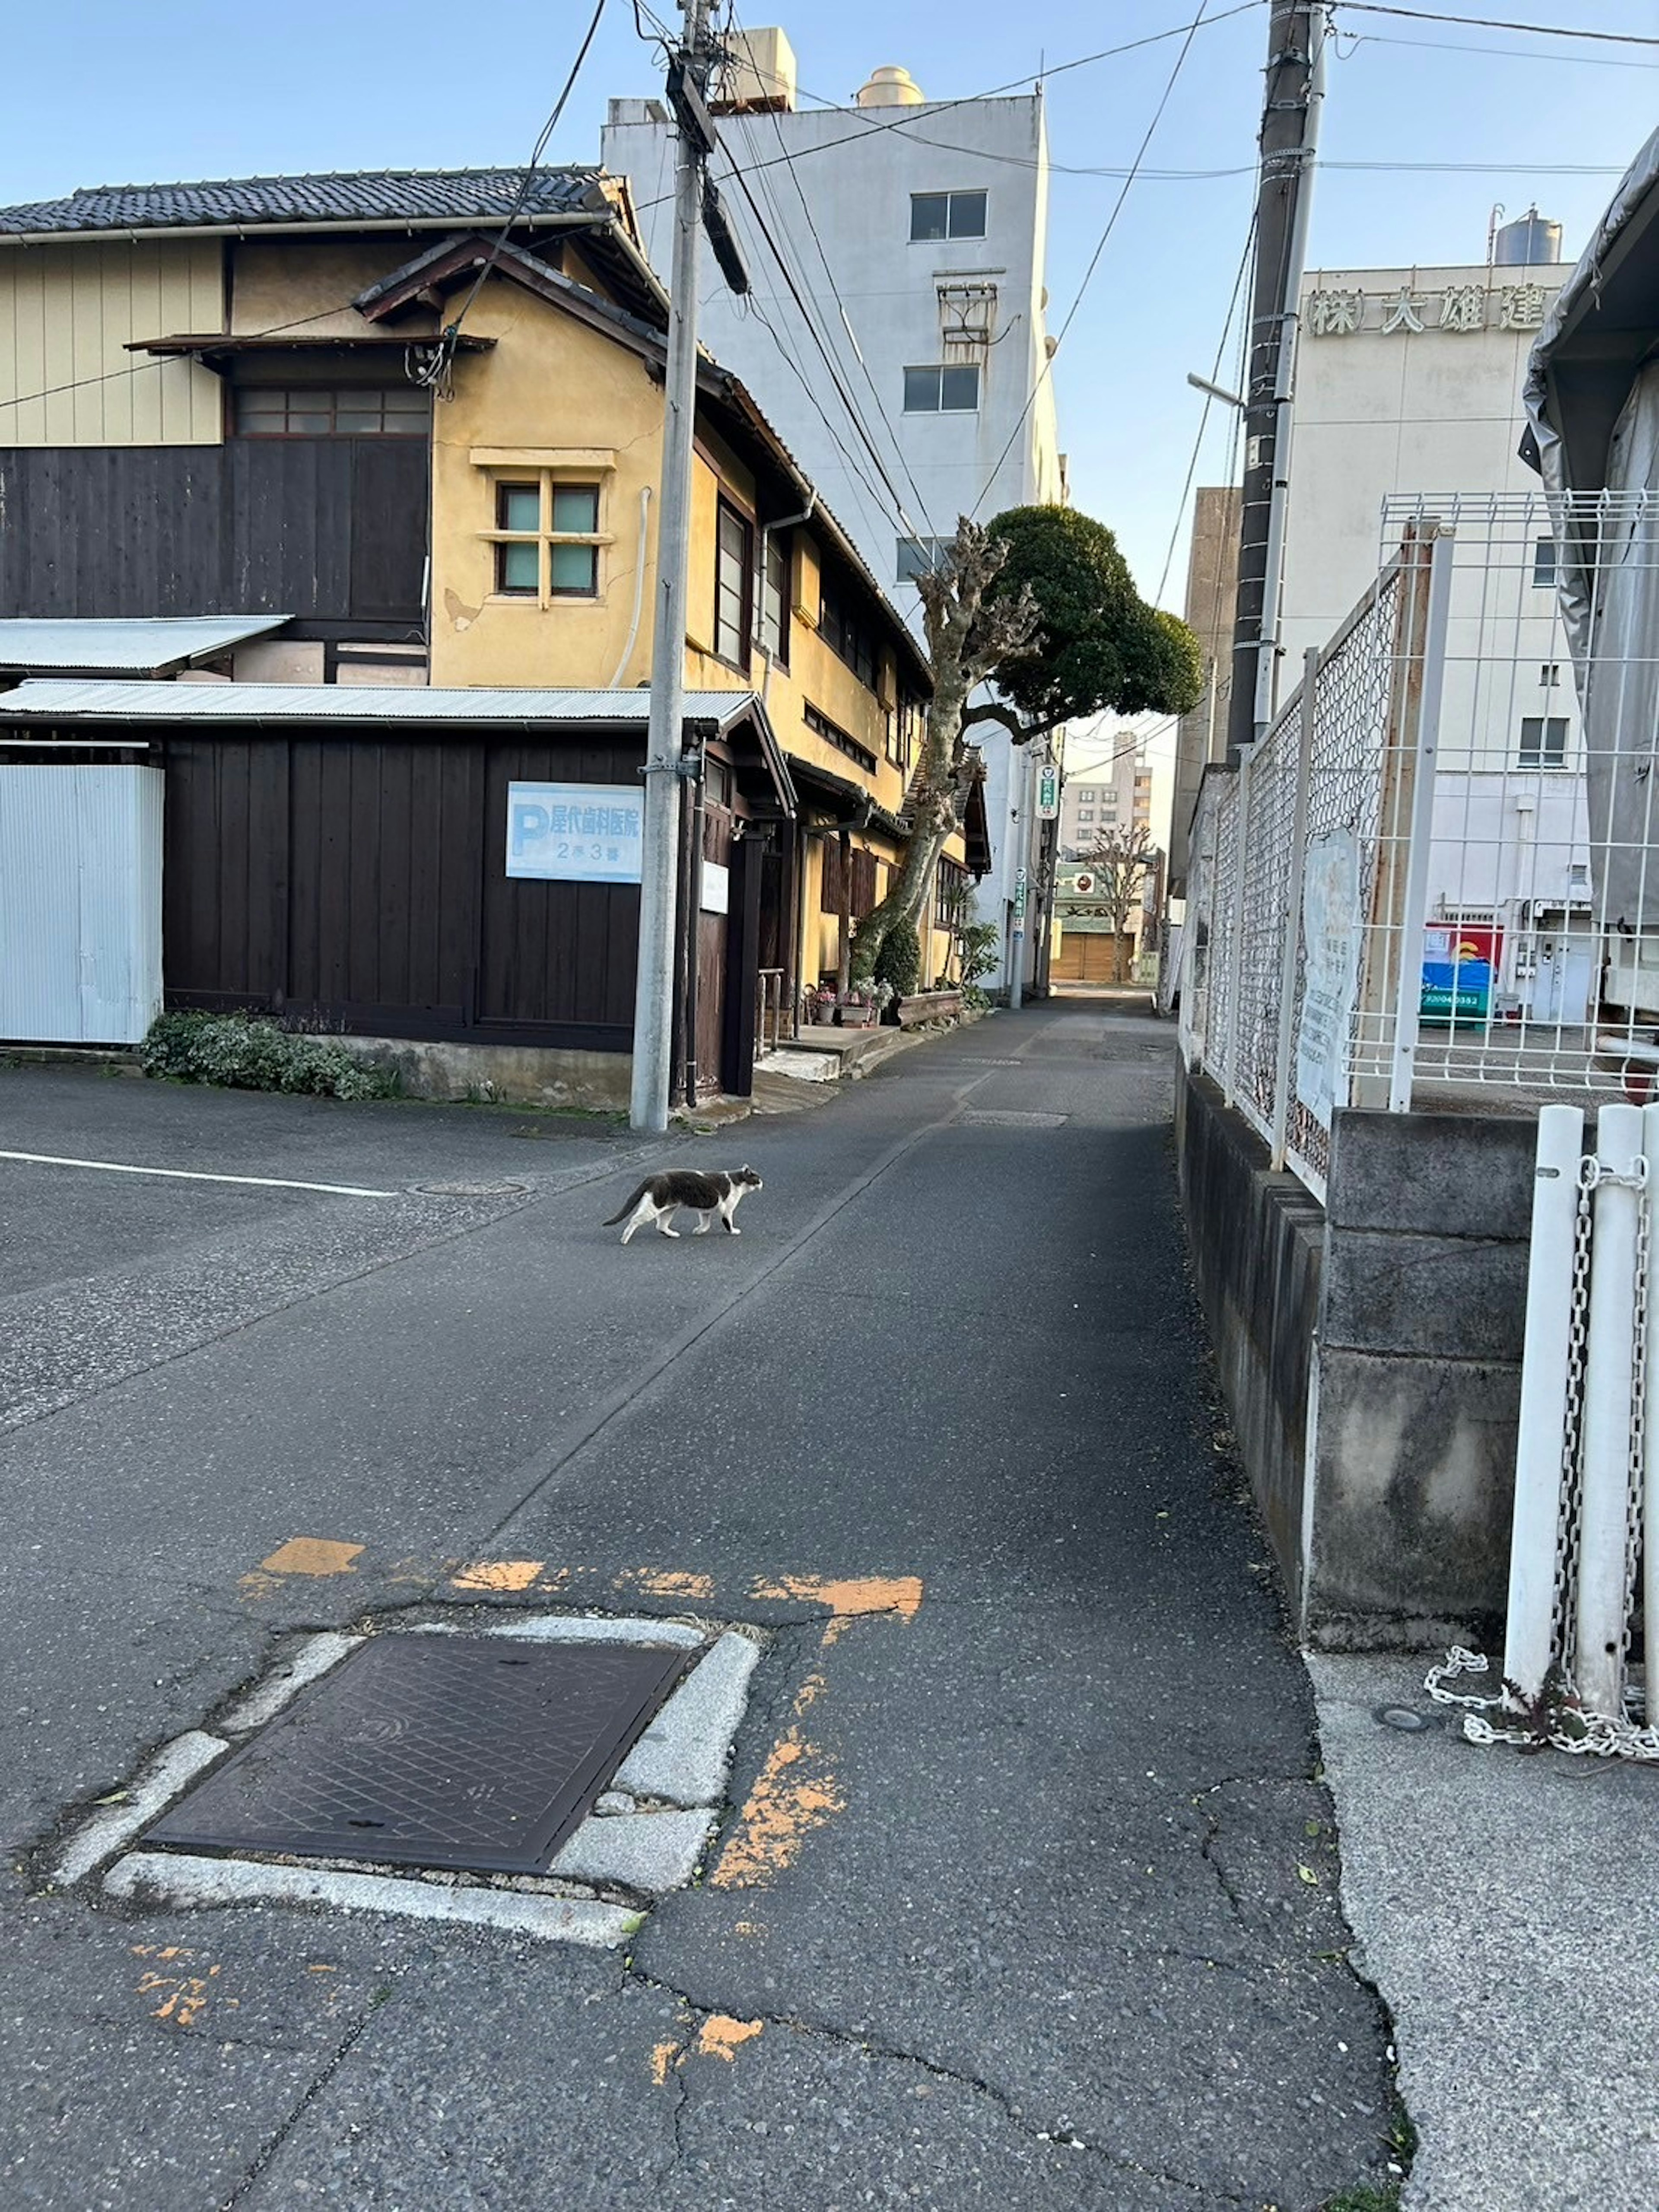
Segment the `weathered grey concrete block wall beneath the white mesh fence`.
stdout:
<path fill-rule="evenodd" d="M 1321 1208 L 1177 1084 L 1199 1294 L 1305 1641 L 1502 1619 L 1526 1318 L 1531 1117 L 1340 1113 Z"/>

